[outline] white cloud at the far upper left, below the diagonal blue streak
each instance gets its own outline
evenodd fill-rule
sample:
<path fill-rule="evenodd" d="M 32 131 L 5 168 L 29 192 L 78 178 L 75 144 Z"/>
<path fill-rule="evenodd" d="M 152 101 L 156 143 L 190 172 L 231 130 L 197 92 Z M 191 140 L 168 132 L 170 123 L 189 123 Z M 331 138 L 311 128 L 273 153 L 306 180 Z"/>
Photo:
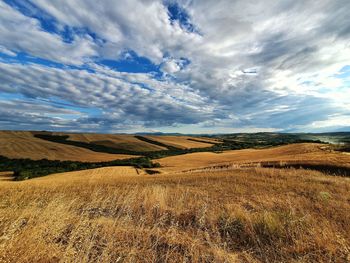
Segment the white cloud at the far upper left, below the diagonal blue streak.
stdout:
<path fill-rule="evenodd" d="M 11 55 L 25 52 L 74 65 L 83 64 L 97 55 L 91 37 L 75 36 L 72 43 L 65 43 L 60 35 L 44 31 L 38 20 L 23 15 L 4 2 L 0 2 L 0 36 L 0 45 Z"/>

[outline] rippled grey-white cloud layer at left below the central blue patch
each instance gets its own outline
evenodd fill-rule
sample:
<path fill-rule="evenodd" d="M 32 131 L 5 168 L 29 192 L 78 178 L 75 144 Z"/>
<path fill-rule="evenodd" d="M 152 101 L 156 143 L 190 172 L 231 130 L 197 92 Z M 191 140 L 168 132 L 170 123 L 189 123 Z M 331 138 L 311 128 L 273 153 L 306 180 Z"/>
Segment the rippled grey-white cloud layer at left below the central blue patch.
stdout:
<path fill-rule="evenodd" d="M 21 94 L 38 105 L 41 100 L 45 103 L 58 100 L 72 107 L 99 109 L 102 114 L 84 122 L 100 123 L 104 128 L 130 120 L 147 127 L 198 123 L 215 115 L 205 98 L 189 87 L 155 80 L 149 74 L 119 73 L 97 65 L 95 70 L 90 73 L 0 62 L 0 71 L 4 73 L 0 75 L 0 92 Z M 28 107 L 26 110 L 33 112 Z"/>

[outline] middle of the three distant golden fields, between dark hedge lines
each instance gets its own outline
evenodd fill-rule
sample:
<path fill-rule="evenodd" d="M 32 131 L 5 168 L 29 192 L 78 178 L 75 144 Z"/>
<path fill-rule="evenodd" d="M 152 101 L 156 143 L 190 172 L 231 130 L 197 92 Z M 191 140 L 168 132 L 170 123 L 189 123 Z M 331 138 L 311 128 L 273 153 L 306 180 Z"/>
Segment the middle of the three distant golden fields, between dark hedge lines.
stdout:
<path fill-rule="evenodd" d="M 141 141 L 134 135 L 92 133 L 72 133 L 67 135 L 69 135 L 69 140 L 72 141 L 93 142 L 99 145 L 136 152 L 166 150 L 165 147 Z"/>

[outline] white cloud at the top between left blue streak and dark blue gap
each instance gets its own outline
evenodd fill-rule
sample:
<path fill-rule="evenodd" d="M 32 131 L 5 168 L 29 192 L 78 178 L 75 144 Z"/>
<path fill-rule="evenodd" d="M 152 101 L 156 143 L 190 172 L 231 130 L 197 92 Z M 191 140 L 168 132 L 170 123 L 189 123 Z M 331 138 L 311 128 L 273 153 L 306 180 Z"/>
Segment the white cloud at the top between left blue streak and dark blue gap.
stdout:
<path fill-rule="evenodd" d="M 188 32 L 178 23 L 171 23 L 168 9 L 162 1 L 130 0 L 122 4 L 105 0 L 96 5 L 92 0 L 33 1 L 59 23 L 87 28 L 104 40 L 100 55 L 116 59 L 125 50 L 134 50 L 160 64 L 164 55 L 185 48 L 199 36 Z"/>

